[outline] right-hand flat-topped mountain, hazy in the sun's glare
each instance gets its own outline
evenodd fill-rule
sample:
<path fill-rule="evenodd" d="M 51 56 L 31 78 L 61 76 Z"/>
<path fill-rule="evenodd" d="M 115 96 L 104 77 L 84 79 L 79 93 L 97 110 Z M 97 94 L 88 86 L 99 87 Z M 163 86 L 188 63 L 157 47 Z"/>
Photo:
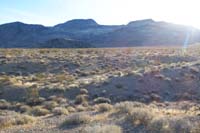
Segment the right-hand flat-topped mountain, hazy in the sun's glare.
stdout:
<path fill-rule="evenodd" d="M 188 34 L 189 43 L 200 41 L 200 31 L 181 25 L 153 20 L 130 22 L 114 32 L 93 38 L 100 47 L 183 45 Z"/>

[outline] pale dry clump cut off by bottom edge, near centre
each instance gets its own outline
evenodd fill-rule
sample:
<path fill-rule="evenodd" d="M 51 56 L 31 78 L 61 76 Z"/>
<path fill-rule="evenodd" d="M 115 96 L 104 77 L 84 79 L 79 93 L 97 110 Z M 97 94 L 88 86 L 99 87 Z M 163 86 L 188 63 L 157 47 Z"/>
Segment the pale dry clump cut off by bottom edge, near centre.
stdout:
<path fill-rule="evenodd" d="M 117 125 L 90 125 L 81 131 L 81 133 L 123 133 L 121 127 Z"/>

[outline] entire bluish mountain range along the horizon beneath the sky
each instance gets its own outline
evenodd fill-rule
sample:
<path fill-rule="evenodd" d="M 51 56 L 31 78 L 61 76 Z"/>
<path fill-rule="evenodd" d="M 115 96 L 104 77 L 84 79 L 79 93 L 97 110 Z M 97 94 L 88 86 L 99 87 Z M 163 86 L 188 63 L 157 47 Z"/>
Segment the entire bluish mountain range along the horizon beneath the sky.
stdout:
<path fill-rule="evenodd" d="M 127 25 L 100 25 L 92 19 L 75 19 L 53 27 L 13 22 L 0 25 L 2 48 L 87 48 L 180 46 L 200 42 L 200 30 L 183 25 L 132 21 Z"/>

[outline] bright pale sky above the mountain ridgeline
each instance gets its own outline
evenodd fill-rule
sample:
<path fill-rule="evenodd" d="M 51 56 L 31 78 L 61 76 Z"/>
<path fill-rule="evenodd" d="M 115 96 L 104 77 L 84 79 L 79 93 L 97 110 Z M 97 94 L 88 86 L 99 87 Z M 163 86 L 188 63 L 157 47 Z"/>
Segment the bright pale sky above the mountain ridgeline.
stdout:
<path fill-rule="evenodd" d="M 52 26 L 79 18 L 108 25 L 152 18 L 200 28 L 200 0 L 0 0 L 0 24 Z"/>

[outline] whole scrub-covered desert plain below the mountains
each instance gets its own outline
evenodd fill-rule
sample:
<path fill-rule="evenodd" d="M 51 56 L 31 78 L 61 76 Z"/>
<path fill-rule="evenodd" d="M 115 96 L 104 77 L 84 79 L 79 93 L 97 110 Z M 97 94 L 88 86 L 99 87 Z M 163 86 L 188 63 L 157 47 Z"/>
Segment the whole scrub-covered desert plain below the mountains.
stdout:
<path fill-rule="evenodd" d="M 1 133 L 199 133 L 200 47 L 0 49 Z"/>

